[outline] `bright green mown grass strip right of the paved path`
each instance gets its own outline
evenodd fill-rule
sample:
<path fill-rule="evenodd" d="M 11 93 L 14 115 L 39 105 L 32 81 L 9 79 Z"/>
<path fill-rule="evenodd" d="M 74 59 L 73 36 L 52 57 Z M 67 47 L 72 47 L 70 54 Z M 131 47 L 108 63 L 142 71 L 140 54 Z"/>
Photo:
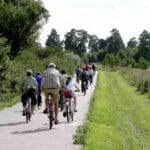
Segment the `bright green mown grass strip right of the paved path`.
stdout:
<path fill-rule="evenodd" d="M 118 72 L 100 71 L 86 150 L 150 150 L 150 99 Z"/>

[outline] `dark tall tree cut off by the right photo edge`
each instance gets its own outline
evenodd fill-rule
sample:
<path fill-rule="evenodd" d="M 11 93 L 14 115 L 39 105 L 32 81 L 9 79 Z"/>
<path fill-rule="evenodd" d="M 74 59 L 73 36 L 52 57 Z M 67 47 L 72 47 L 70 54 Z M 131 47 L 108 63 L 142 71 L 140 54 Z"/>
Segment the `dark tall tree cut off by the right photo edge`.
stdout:
<path fill-rule="evenodd" d="M 144 30 L 139 36 L 139 57 L 150 60 L 150 33 Z"/>

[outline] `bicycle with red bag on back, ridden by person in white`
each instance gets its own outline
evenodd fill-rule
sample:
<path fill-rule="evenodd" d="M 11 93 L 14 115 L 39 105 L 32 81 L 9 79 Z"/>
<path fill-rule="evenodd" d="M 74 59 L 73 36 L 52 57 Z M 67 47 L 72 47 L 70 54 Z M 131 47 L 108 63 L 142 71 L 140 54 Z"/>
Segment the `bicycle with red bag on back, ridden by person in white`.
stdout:
<path fill-rule="evenodd" d="M 73 121 L 74 117 L 74 102 L 72 100 L 71 96 L 71 91 L 70 90 L 65 90 L 64 91 L 64 96 L 65 96 L 65 104 L 64 104 L 64 112 L 67 117 L 67 122 L 69 123 L 71 120 Z"/>

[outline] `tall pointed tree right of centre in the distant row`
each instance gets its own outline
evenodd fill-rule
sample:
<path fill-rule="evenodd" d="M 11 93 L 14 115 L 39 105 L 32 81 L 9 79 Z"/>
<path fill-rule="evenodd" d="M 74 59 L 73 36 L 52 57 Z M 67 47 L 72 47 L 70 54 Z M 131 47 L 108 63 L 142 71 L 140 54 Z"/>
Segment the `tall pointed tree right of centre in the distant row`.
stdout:
<path fill-rule="evenodd" d="M 111 36 L 107 38 L 106 42 L 108 53 L 116 54 L 120 49 L 125 48 L 124 42 L 117 29 L 111 30 Z"/>

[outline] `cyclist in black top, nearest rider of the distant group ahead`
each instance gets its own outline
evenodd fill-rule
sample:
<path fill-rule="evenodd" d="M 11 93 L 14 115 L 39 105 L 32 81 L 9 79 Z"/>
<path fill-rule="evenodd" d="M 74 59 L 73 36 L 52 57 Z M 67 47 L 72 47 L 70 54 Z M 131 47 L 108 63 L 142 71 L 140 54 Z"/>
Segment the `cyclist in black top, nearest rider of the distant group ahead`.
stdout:
<path fill-rule="evenodd" d="M 83 71 L 81 72 L 80 79 L 81 79 L 81 89 L 83 93 L 84 82 L 86 82 L 86 88 L 88 88 L 87 87 L 88 86 L 88 73 L 85 68 L 83 68 Z"/>

